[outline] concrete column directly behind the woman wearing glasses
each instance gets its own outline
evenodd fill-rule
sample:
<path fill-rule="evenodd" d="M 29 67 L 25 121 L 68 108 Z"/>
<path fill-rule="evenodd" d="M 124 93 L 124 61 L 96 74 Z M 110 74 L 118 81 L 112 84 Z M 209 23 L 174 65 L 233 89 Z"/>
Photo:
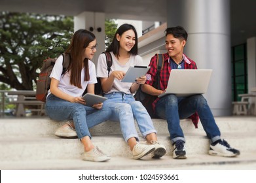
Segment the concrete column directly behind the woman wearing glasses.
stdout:
<path fill-rule="evenodd" d="M 101 12 L 82 12 L 74 16 L 74 31 L 78 29 L 92 31 L 96 36 L 98 47 L 92 61 L 97 66 L 100 54 L 105 51 L 105 14 Z"/>

